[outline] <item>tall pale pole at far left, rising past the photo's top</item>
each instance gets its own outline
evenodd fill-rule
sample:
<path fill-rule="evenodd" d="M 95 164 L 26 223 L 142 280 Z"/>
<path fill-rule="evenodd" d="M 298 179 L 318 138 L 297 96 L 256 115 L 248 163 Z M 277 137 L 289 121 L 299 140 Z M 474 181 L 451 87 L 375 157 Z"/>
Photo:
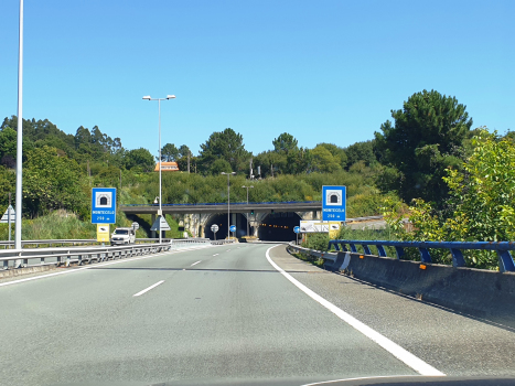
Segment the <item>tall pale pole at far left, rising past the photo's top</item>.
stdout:
<path fill-rule="evenodd" d="M 22 160 L 23 160 L 23 0 L 20 0 L 20 31 L 18 46 L 18 125 L 17 125 L 17 210 L 14 249 L 21 249 Z M 9 229 L 9 232 L 11 232 Z M 18 266 L 18 261 L 15 262 Z"/>

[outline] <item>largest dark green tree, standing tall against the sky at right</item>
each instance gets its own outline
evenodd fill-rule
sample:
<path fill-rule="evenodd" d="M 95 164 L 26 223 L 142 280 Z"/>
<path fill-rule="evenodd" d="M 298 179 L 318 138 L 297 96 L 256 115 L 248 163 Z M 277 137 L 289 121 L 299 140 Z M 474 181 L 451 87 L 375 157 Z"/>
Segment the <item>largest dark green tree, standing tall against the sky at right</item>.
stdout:
<path fill-rule="evenodd" d="M 405 201 L 421 197 L 443 205 L 448 186 L 442 178 L 459 167 L 461 146 L 472 126 L 465 106 L 436 90 L 417 93 L 391 110 L 395 120 L 375 132 L 382 163 L 398 170 L 396 190 Z M 348 152 L 347 152 L 348 156 Z"/>

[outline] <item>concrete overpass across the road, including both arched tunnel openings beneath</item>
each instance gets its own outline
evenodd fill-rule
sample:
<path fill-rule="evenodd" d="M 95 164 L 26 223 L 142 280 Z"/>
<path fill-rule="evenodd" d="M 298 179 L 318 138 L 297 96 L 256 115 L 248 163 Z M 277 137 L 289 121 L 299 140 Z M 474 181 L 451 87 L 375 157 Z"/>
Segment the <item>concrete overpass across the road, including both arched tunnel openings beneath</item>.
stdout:
<path fill-rule="evenodd" d="M 249 234 L 260 239 L 291 240 L 294 238 L 293 227 L 300 219 L 321 218 L 321 201 L 289 201 L 260 203 L 230 203 L 230 224 L 236 225 L 237 236 Z M 214 238 L 211 225 L 217 224 L 217 238 L 225 238 L 227 229 L 227 203 L 202 204 L 162 204 L 163 214 L 184 215 L 184 227 L 194 237 Z M 120 211 L 126 215 L 150 214 L 152 223 L 158 214 L 159 204 L 121 205 Z M 273 229 L 273 230 L 272 230 Z"/>

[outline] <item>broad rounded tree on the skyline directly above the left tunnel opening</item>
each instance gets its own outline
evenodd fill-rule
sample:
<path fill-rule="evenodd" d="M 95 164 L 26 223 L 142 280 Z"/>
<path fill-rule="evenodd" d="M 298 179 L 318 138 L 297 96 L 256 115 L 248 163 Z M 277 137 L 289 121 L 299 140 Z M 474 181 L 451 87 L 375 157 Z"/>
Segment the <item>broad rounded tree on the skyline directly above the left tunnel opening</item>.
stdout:
<path fill-rule="evenodd" d="M 243 140 L 243 136 L 230 128 L 213 132 L 207 141 L 201 144 L 199 164 L 202 171 L 208 173 L 213 163 L 219 158 L 226 160 L 233 171 L 237 171 L 240 162 L 251 156 L 245 150 Z"/>

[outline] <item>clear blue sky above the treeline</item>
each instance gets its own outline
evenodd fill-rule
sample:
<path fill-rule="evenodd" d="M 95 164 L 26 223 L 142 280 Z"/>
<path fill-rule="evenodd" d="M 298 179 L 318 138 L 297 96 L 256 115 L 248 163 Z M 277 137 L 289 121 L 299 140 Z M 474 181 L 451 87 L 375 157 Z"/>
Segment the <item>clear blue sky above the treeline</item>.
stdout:
<path fill-rule="evenodd" d="M 213 131 L 271 148 L 374 138 L 422 89 L 515 130 L 515 1 L 25 0 L 24 118 L 97 125 L 127 149 Z M 18 0 L 0 4 L 0 118 L 17 114 Z"/>

